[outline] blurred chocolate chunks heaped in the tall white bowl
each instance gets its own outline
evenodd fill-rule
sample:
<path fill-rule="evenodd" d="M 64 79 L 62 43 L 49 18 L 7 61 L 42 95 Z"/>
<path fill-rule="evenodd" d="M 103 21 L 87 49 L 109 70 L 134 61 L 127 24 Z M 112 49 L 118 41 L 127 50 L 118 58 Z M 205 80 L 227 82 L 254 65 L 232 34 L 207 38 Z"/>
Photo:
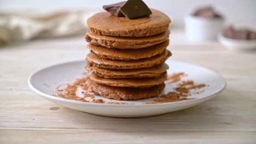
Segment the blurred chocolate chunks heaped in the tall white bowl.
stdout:
<path fill-rule="evenodd" d="M 200 17 L 210 17 L 210 18 L 222 17 L 221 15 L 216 13 L 216 11 L 214 11 L 214 9 L 212 7 L 199 8 L 195 11 L 195 13 L 193 15 L 200 16 Z"/>

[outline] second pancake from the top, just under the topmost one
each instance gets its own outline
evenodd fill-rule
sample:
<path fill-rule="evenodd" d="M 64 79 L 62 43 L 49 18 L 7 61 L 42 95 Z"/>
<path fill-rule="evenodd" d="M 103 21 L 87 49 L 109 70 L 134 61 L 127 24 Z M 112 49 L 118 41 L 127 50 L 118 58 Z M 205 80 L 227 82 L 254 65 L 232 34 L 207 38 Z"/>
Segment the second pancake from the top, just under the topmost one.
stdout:
<path fill-rule="evenodd" d="M 98 35 L 89 31 L 84 35 L 84 37 L 87 42 L 93 45 L 100 45 L 107 48 L 141 49 L 164 42 L 168 39 L 169 34 L 170 31 L 167 30 L 164 33 L 153 35 L 151 37 L 124 38 Z"/>

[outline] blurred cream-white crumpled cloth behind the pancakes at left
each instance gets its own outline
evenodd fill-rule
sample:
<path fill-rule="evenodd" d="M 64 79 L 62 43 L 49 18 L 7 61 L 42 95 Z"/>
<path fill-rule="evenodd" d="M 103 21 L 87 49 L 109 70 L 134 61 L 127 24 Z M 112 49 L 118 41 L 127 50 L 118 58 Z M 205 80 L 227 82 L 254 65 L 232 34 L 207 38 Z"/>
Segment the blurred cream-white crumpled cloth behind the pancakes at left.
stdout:
<path fill-rule="evenodd" d="M 84 34 L 86 20 L 98 10 L 0 12 L 0 45 L 35 38 Z"/>

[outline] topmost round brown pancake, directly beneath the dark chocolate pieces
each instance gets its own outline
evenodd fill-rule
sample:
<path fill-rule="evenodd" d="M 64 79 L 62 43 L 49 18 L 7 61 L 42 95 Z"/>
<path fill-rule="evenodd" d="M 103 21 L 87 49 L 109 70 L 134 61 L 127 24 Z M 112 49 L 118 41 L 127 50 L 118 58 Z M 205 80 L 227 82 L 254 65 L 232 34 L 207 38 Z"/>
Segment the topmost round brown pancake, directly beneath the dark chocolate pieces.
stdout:
<path fill-rule="evenodd" d="M 152 14 L 148 17 L 134 20 L 117 17 L 104 11 L 92 15 L 87 24 L 96 34 L 115 37 L 148 37 L 165 32 L 171 23 L 170 18 L 161 11 L 150 10 Z"/>

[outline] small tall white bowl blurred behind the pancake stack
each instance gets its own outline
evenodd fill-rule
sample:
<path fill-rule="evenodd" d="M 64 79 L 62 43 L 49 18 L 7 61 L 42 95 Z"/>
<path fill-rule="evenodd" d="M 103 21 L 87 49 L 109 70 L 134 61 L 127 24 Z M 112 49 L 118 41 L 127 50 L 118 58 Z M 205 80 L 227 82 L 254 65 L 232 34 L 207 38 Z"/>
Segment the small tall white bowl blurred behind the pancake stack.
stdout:
<path fill-rule="evenodd" d="M 223 18 L 207 18 L 188 15 L 185 17 L 185 35 L 190 41 L 211 41 L 222 31 Z"/>

